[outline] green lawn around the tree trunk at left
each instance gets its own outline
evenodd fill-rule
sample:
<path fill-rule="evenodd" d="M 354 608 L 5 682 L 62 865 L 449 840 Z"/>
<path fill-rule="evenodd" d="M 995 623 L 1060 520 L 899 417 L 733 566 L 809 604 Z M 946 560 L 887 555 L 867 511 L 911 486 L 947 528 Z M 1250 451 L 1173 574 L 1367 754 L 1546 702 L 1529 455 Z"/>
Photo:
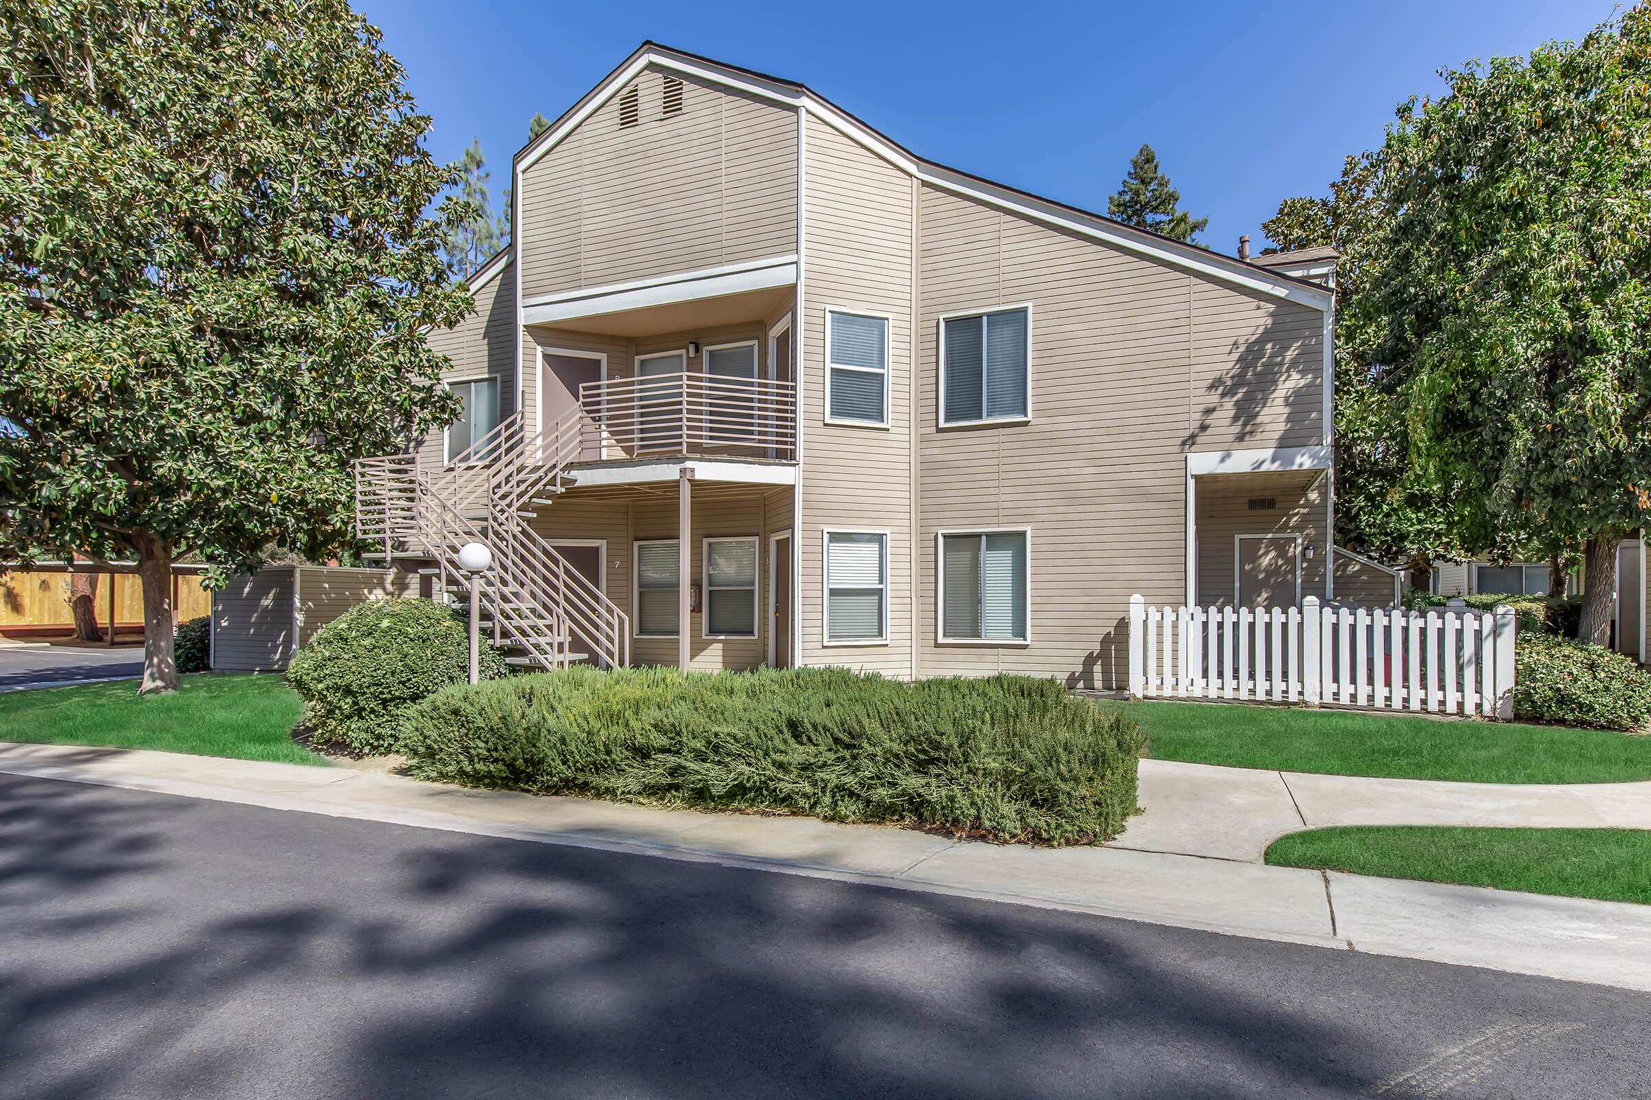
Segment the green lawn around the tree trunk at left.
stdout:
<path fill-rule="evenodd" d="M 281 676 L 198 673 L 150 698 L 139 698 L 135 681 L 8 691 L 0 694 L 0 740 L 325 765 L 292 740 L 302 712 Z"/>

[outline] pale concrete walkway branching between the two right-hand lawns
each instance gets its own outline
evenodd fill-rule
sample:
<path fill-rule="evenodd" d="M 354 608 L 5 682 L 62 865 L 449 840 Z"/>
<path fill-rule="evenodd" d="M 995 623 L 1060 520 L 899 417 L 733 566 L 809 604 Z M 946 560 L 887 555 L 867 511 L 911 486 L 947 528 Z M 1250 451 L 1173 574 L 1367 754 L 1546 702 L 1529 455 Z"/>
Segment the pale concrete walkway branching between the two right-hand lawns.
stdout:
<path fill-rule="evenodd" d="M 1336 825 L 1651 830 L 1651 782 L 1445 783 L 1141 762 L 1114 848 L 1261 863 L 1286 833 Z"/>

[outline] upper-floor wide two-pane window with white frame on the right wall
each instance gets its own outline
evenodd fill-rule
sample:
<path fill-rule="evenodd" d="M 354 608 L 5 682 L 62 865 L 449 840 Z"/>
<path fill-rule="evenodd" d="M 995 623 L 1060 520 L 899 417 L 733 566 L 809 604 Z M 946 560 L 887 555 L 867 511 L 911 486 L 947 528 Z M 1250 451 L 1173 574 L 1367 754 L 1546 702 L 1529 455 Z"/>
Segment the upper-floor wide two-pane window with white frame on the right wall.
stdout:
<path fill-rule="evenodd" d="M 1029 310 L 997 310 L 941 322 L 941 424 L 1027 417 Z"/>

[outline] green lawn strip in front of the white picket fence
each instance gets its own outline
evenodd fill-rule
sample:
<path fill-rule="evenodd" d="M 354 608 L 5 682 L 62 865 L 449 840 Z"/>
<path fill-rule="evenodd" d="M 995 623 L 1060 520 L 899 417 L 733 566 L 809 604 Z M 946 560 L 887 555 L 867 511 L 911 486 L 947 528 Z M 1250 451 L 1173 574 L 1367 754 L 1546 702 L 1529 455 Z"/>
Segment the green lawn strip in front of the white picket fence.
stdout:
<path fill-rule="evenodd" d="M 1159 760 L 1476 783 L 1651 778 L 1651 737 L 1210 703 L 1123 703 Z"/>

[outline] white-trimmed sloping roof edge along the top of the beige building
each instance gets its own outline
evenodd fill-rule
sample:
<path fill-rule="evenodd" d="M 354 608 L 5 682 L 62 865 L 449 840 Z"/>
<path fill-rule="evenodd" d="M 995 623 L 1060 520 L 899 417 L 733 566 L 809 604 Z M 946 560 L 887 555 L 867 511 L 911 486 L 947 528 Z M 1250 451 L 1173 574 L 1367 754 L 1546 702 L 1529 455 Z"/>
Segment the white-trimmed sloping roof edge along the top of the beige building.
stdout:
<path fill-rule="evenodd" d="M 520 173 L 535 160 L 555 148 L 555 145 L 580 122 L 598 110 L 647 66 L 672 69 L 702 81 L 736 87 L 746 94 L 768 99 L 771 102 L 807 110 L 827 125 L 865 145 L 883 160 L 910 172 L 931 186 L 964 195 L 1001 209 L 1014 211 L 1032 218 L 1034 221 L 1070 229 L 1073 233 L 1105 241 L 1114 247 L 1151 256 L 1176 267 L 1184 267 L 1207 277 L 1238 284 L 1250 290 L 1271 294 L 1319 310 L 1331 308 L 1329 290 L 1316 282 L 1273 270 L 1271 267 L 1253 261 L 1220 256 L 1195 244 L 1174 241 L 1147 229 L 1113 221 L 1105 214 L 1096 214 L 1095 211 L 1070 206 L 1040 195 L 1032 195 L 1030 191 L 1022 191 L 1009 186 L 1007 183 L 996 183 L 959 168 L 948 168 L 946 165 L 918 157 L 905 145 L 872 129 L 849 110 L 844 110 L 819 92 L 809 89 L 806 84 L 758 73 L 755 69 L 745 69 L 723 61 L 715 61 L 712 58 L 702 58 L 698 54 L 662 46 L 654 41 L 644 41 L 636 53 L 603 78 L 603 81 L 586 92 L 580 102 L 565 110 L 561 117 L 546 127 L 537 139 L 523 145 L 522 150 L 517 152 L 513 162 L 517 176 L 520 176 Z M 517 190 L 520 193 L 520 186 Z"/>

